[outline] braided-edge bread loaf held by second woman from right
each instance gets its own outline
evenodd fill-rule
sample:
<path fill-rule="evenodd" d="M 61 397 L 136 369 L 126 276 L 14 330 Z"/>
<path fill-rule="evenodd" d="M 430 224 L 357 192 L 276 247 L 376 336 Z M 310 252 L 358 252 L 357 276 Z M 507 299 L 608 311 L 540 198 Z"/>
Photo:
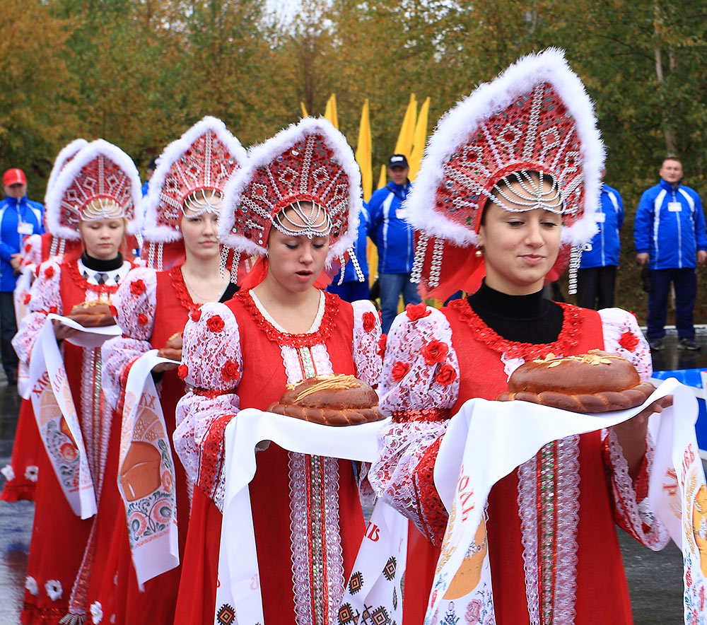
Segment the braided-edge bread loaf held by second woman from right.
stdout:
<path fill-rule="evenodd" d="M 317 375 L 288 384 L 268 412 L 325 426 L 352 426 L 380 421 L 378 395 L 353 375 Z"/>

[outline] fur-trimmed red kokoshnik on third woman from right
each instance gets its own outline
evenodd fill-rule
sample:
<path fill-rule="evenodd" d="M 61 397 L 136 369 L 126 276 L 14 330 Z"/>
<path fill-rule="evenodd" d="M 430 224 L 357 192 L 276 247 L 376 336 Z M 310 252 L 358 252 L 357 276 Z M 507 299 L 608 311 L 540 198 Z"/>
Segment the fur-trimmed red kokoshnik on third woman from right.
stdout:
<path fill-rule="evenodd" d="M 149 243 L 182 238 L 185 198 L 202 189 L 223 193 L 233 172 L 247 162 L 245 148 L 221 119 L 206 116 L 169 144 L 157 159 L 144 198 L 143 235 Z"/>

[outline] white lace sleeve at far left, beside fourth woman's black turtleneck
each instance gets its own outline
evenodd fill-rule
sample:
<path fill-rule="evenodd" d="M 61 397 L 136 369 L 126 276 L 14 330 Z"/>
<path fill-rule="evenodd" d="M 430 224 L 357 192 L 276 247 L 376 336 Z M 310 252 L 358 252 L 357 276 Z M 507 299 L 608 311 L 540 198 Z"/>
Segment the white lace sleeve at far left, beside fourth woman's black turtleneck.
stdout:
<path fill-rule="evenodd" d="M 64 313 L 60 281 L 62 270 L 56 260 L 47 260 L 37 270 L 37 279 L 30 289 L 29 298 L 26 300 L 28 315 L 22 320 L 17 334 L 12 339 L 18 358 L 28 365 L 32 348 L 40 329 L 47 320 L 47 315 L 54 312 L 57 315 Z"/>

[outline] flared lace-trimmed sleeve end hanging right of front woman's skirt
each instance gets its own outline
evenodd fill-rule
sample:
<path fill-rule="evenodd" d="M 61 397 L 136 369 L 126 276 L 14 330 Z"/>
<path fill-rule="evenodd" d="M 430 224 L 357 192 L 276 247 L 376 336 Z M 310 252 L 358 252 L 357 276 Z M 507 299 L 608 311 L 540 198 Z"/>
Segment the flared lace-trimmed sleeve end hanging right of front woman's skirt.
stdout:
<path fill-rule="evenodd" d="M 648 503 L 648 476 L 653 467 L 653 440 L 650 435 L 646 440 L 645 462 L 641 466 L 641 475 L 633 480 L 629 475 L 629 465 L 624 458 L 619 439 L 613 430 L 604 438 L 604 465 L 609 473 L 609 483 L 614 498 L 614 520 L 622 530 L 653 551 L 660 551 L 670 536 L 660 520 L 655 517 Z"/>

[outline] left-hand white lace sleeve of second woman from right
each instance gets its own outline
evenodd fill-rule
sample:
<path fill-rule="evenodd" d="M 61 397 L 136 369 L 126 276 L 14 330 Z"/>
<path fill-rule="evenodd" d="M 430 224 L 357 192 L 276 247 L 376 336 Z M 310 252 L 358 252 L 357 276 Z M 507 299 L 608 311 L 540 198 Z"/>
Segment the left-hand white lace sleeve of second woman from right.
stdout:
<path fill-rule="evenodd" d="M 194 484 L 199 481 L 204 435 L 218 417 L 238 412 L 235 389 L 242 371 L 240 333 L 233 312 L 220 303 L 202 305 L 184 329 L 179 375 L 191 388 L 177 404 L 173 436 L 175 451 Z"/>

